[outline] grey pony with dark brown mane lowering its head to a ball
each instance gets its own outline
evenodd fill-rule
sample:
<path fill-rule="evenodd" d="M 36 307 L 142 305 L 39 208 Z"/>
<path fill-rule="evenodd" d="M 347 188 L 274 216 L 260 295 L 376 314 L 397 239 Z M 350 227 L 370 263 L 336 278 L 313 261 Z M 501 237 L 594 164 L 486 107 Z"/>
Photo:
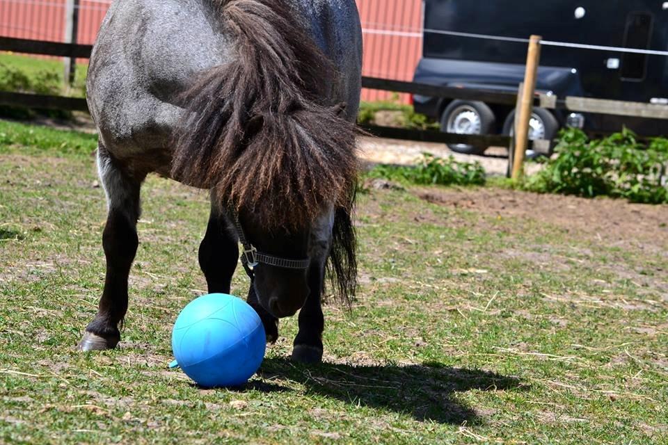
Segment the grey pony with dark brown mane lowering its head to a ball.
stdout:
<path fill-rule="evenodd" d="M 106 277 L 80 350 L 115 348 L 149 173 L 210 191 L 198 250 L 209 293 L 241 263 L 267 341 L 299 311 L 292 358 L 322 359 L 326 276 L 356 290 L 354 0 L 116 0 L 90 57 L 87 99 L 108 216 Z"/>

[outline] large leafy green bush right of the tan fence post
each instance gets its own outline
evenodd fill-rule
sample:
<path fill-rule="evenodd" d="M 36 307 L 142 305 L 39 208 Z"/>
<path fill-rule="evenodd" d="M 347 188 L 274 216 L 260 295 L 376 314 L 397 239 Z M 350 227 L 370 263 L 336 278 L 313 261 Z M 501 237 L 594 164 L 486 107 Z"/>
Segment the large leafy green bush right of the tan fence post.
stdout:
<path fill-rule="evenodd" d="M 578 129 L 562 131 L 557 156 L 525 179 L 523 188 L 539 193 L 621 197 L 631 202 L 668 203 L 668 140 L 639 143 L 624 129 L 603 140 L 588 140 Z"/>

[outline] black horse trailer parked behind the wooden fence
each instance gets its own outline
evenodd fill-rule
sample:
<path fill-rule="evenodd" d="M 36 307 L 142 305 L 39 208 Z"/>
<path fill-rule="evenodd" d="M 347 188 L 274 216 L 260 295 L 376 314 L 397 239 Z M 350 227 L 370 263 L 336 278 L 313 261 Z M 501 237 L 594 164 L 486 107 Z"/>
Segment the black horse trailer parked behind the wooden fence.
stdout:
<path fill-rule="evenodd" d="M 557 97 L 668 104 L 666 56 L 568 47 L 666 51 L 668 1 L 425 0 L 423 32 L 423 54 L 414 76 L 418 83 L 515 93 L 525 72 L 523 40 L 538 34 L 566 45 L 543 45 L 537 91 Z M 449 133 L 512 131 L 511 106 L 417 95 L 413 103 L 415 111 L 439 120 L 442 131 Z M 657 119 L 534 108 L 530 138 L 552 140 L 564 126 L 589 134 L 612 133 L 625 126 L 642 136 L 668 133 L 668 124 Z M 486 147 L 453 145 L 452 149 L 480 154 Z"/>

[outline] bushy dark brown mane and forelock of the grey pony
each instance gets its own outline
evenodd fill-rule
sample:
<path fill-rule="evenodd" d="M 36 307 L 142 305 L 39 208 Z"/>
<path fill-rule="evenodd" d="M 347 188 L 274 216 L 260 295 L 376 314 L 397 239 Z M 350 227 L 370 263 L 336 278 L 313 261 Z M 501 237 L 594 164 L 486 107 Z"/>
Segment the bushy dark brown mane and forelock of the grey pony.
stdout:
<path fill-rule="evenodd" d="M 289 3 L 216 2 L 236 54 L 184 93 L 171 171 L 267 229 L 308 225 L 328 203 L 349 209 L 356 187 L 355 127 L 323 103 L 332 64 Z"/>

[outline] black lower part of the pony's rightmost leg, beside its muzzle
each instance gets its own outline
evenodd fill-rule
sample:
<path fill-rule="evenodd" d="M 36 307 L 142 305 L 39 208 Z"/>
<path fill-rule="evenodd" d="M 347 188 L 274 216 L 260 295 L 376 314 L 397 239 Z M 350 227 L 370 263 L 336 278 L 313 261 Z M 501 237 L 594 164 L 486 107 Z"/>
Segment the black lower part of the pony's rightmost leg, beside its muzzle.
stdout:
<path fill-rule="evenodd" d="M 292 348 L 292 359 L 295 362 L 318 363 L 322 360 L 322 332 L 325 318 L 322 314 L 321 295 L 324 273 L 324 264 L 313 264 L 308 270 L 310 293 L 299 312 L 299 332 Z"/>

